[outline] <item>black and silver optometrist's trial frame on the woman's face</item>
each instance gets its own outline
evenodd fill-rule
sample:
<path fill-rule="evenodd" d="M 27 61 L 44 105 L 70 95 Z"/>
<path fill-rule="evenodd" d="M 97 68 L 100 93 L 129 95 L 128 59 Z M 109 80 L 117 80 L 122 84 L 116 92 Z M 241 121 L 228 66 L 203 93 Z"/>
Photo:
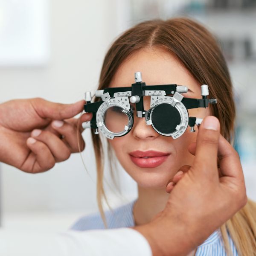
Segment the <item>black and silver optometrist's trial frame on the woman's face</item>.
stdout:
<path fill-rule="evenodd" d="M 85 93 L 85 112 L 93 113 L 91 121 L 84 122 L 83 128 L 95 129 L 108 139 L 121 137 L 127 134 L 134 122 L 131 103 L 136 103 L 137 117 L 145 117 L 146 125 L 151 125 L 155 131 L 164 136 L 180 137 L 188 126 L 191 132 L 195 132 L 194 126 L 200 125 L 201 118 L 189 117 L 188 109 L 207 108 L 209 104 L 217 103 L 217 99 L 207 99 L 209 95 L 208 85 L 201 85 L 202 99 L 186 98 L 181 93 L 187 93 L 188 88 L 177 84 L 146 85 L 142 82 L 140 72 L 135 73 L 135 83 L 131 87 L 113 87 L 97 90 L 96 97 L 102 100 L 91 103 L 91 93 Z M 167 96 L 171 95 L 171 96 Z M 144 110 L 143 97 L 151 96 L 150 109 Z M 130 97 L 130 99 L 129 99 Z M 113 107 L 119 107 L 128 116 L 128 123 L 123 131 L 110 131 L 104 121 L 106 111 Z"/>

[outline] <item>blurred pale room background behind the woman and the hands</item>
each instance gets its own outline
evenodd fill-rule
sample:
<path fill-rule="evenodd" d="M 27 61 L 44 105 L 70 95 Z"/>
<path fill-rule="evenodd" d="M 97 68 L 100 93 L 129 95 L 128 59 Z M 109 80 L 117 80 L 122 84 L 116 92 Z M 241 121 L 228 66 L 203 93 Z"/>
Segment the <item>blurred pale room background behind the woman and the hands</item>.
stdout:
<path fill-rule="evenodd" d="M 256 0 L 0 0 L 0 102 L 76 102 L 96 90 L 104 55 L 122 31 L 178 16 L 200 21 L 218 37 L 236 94 L 236 150 L 247 195 L 256 201 Z M 87 171 L 80 154 L 38 175 L 0 164 L 2 227 L 67 230 L 98 210 L 90 131 L 83 135 Z M 112 207 L 137 195 L 121 166 L 117 172 L 122 195 L 106 186 Z"/>

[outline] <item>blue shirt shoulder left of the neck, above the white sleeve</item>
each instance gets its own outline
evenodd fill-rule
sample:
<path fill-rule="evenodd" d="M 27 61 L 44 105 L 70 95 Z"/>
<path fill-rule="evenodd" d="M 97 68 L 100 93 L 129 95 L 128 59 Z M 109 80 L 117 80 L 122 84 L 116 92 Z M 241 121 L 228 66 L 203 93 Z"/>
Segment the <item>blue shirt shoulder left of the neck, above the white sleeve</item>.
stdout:
<path fill-rule="evenodd" d="M 116 209 L 105 212 L 108 228 L 133 227 L 132 214 L 135 201 L 122 205 Z M 72 230 L 105 229 L 100 213 L 87 215 L 79 218 L 71 227 Z"/>

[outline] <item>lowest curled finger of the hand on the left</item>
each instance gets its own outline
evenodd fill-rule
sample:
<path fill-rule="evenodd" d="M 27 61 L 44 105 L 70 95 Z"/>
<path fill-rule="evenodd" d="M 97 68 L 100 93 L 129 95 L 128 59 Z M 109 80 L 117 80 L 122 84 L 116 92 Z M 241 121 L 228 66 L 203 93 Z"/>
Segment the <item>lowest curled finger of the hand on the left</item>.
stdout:
<path fill-rule="evenodd" d="M 45 172 L 55 165 L 55 159 L 47 145 L 32 137 L 27 139 L 26 144 L 32 152 L 21 167 L 22 170 L 30 173 Z"/>

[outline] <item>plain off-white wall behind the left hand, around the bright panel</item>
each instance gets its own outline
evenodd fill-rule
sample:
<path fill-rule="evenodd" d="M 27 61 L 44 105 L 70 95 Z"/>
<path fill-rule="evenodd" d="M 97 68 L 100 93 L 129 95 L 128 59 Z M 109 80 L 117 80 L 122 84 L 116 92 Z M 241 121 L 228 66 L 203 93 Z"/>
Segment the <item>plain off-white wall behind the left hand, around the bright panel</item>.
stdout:
<path fill-rule="evenodd" d="M 31 97 L 62 103 L 83 99 L 85 91 L 96 89 L 105 52 L 127 26 L 126 16 L 120 15 L 127 10 L 117 0 L 52 0 L 49 7 L 49 63 L 43 67 L 0 68 L 0 102 Z M 79 154 L 38 175 L 2 165 L 3 212 L 95 211 L 96 170 L 89 131 L 84 137 L 87 148 L 83 155 L 92 179 Z"/>

